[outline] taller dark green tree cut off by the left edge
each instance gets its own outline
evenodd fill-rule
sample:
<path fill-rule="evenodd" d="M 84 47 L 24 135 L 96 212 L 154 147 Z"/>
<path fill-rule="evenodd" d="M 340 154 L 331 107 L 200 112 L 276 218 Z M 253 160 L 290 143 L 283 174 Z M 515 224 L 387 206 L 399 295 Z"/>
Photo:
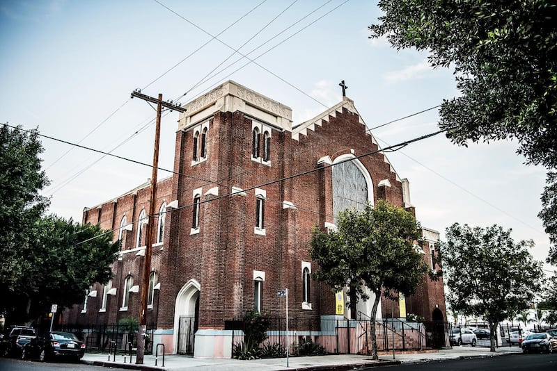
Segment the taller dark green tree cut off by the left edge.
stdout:
<path fill-rule="evenodd" d="M 37 131 L 0 127 L 0 290 L 15 290 L 31 265 L 22 260 L 35 238 L 32 226 L 49 205 L 40 190 L 49 184 L 40 168 Z M 2 300 L 1 302 L 6 302 Z M 0 308 L 1 311 L 2 308 Z"/>

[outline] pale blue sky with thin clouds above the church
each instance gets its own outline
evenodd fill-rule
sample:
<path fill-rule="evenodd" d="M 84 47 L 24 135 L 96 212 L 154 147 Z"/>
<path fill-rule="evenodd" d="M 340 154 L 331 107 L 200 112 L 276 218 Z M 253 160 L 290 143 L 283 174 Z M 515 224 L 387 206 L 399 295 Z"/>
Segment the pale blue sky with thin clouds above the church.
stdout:
<path fill-rule="evenodd" d="M 358 0 L 0 0 L 0 122 L 151 163 L 155 110 L 130 99 L 136 88 L 185 104 L 232 79 L 292 108 L 295 125 L 341 101 L 344 80 L 369 129 L 457 96 L 453 71 L 432 69 L 427 53 L 368 38 L 379 15 L 376 1 Z M 427 110 L 372 134 L 387 147 L 437 131 L 438 119 Z M 164 169 L 173 168 L 177 120 L 162 119 Z M 62 217 L 81 221 L 84 207 L 151 175 L 56 140 L 42 145 L 51 181 L 42 193 Z M 387 157 L 409 179 L 418 221 L 441 238 L 454 222 L 499 224 L 534 240 L 544 261 L 545 171 L 516 150 L 510 141 L 457 147 L 441 134 Z"/>

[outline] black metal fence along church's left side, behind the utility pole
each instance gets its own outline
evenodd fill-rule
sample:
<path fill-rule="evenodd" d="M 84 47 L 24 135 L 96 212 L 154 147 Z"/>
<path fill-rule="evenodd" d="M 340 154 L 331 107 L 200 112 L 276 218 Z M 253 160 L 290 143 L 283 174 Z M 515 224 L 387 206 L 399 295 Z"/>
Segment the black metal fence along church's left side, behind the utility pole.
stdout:
<path fill-rule="evenodd" d="M 56 330 L 73 333 L 85 343 L 86 352 L 108 352 L 114 345 L 117 351 L 129 352 L 130 347 L 137 348 L 139 328 L 130 324 L 64 324 Z M 145 354 L 152 354 L 150 340 L 154 330 L 155 324 L 147 324 Z"/>

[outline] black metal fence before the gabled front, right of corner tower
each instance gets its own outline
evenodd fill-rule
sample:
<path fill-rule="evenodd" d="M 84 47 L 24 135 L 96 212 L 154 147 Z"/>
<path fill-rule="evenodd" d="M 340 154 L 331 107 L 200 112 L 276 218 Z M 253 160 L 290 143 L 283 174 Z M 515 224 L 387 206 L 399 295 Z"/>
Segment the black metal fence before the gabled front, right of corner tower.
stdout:
<path fill-rule="evenodd" d="M 301 354 L 307 343 L 320 345 L 329 354 L 371 354 L 371 331 L 375 327 L 378 352 L 403 352 L 425 348 L 450 346 L 450 325 L 439 322 L 406 322 L 396 318 L 379 321 L 370 319 L 350 320 L 347 318 L 289 318 L 288 333 L 286 320 L 272 317 L 267 339 L 261 349 L 280 345 L 290 354 Z M 243 318 L 226 321 L 225 328 L 233 330 L 233 347 L 244 343 L 246 323 Z M 288 340 L 287 340 L 288 339 Z"/>

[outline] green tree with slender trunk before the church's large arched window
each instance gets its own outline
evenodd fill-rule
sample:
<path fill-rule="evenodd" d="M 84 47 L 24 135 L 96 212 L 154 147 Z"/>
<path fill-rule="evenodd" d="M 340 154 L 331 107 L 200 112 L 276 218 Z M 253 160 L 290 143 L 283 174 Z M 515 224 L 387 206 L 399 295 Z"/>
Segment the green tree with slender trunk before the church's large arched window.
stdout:
<path fill-rule="evenodd" d="M 314 278 L 326 282 L 335 292 L 347 286 L 348 305 L 369 299 L 363 286 L 375 294 L 371 318 L 377 314 L 382 292 L 389 299 L 398 293 L 411 295 L 427 272 L 414 240 L 421 238 L 414 217 L 402 208 L 379 200 L 363 211 L 338 214 L 336 230 L 328 233 L 315 227 L 311 258 L 319 264 Z M 372 358 L 377 359 L 375 327 L 371 327 Z"/>

